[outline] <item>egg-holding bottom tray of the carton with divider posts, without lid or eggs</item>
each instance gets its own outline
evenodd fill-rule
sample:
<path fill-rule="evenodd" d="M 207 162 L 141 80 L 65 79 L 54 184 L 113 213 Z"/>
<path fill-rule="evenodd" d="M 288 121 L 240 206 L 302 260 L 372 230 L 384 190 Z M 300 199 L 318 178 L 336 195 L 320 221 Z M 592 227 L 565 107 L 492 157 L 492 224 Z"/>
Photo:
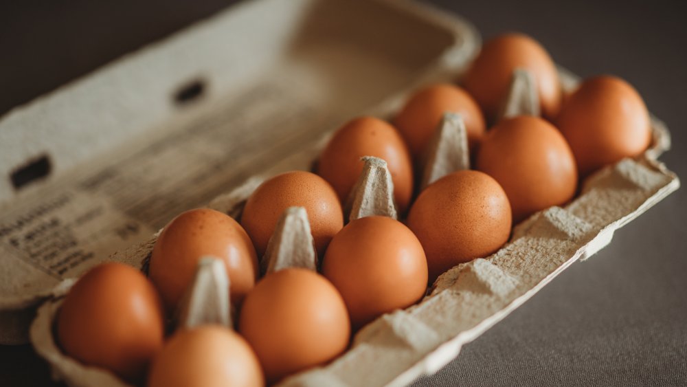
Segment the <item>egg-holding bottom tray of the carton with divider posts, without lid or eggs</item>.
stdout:
<path fill-rule="evenodd" d="M 531 112 L 536 106 L 531 103 L 531 77 L 523 76 L 530 81 L 521 84 L 521 76 L 514 76 L 504 115 Z M 574 77 L 565 72 L 561 76 L 570 89 Z M 392 117 L 392 113 L 387 113 L 387 118 Z M 653 144 L 644 155 L 624 159 L 595 173 L 585 180 L 580 195 L 570 204 L 537 212 L 519 223 L 498 252 L 444 272 L 417 305 L 377 318 L 354 336 L 350 349 L 336 360 L 287 377 L 280 385 L 402 386 L 420 375 L 437 371 L 458 355 L 463 344 L 507 316 L 568 265 L 595 254 L 611 241 L 616 229 L 679 187 L 679 179 L 653 158 L 669 146 L 667 136 L 660 122 L 654 120 Z M 308 153 L 319 154 L 326 140 L 328 137 Z M 447 113 L 430 146 L 424 184 L 467 168 L 467 150 L 462 120 Z M 393 182 L 386 163 L 376 157 L 363 160 L 365 167 L 346 206 L 349 221 L 371 215 L 395 219 Z M 214 199 L 209 207 L 239 220 L 247 197 L 263 180 L 264 177 L 251 178 L 236 190 Z M 146 271 L 156 239 L 157 236 L 118 254 L 126 256 L 126 261 L 139 262 Z M 316 257 L 305 211 L 287 209 L 262 258 L 263 272 L 294 266 L 316 270 Z M 113 258 L 121 257 L 115 254 Z M 214 270 L 215 274 L 199 270 L 190 294 L 196 294 L 196 287 L 200 287 L 198 292 L 202 296 L 196 294 L 196 302 L 190 304 L 193 307 L 183 303 L 179 313 L 182 325 L 212 322 L 232 326 L 227 292 L 222 290 L 226 289 L 227 280 L 216 280 L 218 269 Z M 72 360 L 56 346 L 52 326 L 72 283 L 65 281 L 54 299 L 38 310 L 31 330 L 36 351 L 70 385 L 126 385 L 107 371 Z M 225 301 L 216 302 L 218 298 Z M 195 313 L 189 313 L 190 309 Z"/>

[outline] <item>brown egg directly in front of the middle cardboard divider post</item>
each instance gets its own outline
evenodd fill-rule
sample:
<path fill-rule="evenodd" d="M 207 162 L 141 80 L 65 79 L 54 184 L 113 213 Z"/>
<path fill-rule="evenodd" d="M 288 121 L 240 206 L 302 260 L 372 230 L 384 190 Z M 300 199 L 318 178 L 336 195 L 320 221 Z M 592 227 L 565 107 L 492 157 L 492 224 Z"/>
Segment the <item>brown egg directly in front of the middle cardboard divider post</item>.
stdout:
<path fill-rule="evenodd" d="M 354 327 L 413 305 L 427 289 L 427 259 L 420 241 L 388 217 L 356 219 L 334 236 L 322 273 L 334 284 Z"/>

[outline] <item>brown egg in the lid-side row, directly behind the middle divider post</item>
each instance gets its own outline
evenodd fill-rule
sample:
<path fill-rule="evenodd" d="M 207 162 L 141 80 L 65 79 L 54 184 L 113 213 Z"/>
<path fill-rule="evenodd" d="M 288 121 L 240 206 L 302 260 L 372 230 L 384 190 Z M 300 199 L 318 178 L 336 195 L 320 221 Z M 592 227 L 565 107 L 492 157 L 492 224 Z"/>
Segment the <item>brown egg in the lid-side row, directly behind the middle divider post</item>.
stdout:
<path fill-rule="evenodd" d="M 341 127 L 320 155 L 317 173 L 333 186 L 341 203 L 346 203 L 363 171 L 363 156 L 387 162 L 396 205 L 405 212 L 413 195 L 413 164 L 403 138 L 387 122 L 361 117 Z"/>

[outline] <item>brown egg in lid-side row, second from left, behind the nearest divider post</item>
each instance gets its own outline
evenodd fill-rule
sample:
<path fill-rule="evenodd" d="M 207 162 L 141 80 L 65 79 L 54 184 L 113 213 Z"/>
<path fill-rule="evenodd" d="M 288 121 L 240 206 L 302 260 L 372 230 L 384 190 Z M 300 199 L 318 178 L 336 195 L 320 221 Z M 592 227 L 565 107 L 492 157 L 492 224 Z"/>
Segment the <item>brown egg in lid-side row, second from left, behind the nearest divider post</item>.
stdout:
<path fill-rule="evenodd" d="M 168 311 L 177 307 L 203 256 L 224 261 L 234 305 L 255 285 L 258 258 L 243 228 L 229 215 L 210 208 L 186 211 L 166 225 L 150 256 L 148 275 Z"/>

